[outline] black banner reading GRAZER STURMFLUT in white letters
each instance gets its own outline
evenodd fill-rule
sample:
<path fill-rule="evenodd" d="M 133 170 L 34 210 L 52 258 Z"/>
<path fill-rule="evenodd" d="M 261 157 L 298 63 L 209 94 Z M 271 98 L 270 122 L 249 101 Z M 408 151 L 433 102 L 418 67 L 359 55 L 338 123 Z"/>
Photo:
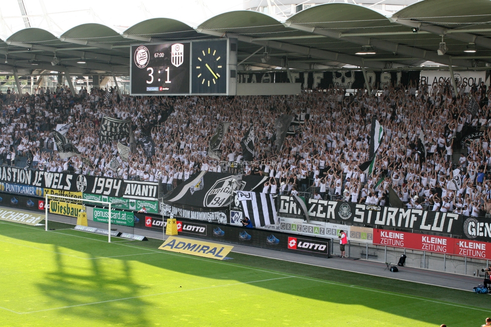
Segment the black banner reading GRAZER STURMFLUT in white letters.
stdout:
<path fill-rule="evenodd" d="M 421 232 L 460 235 L 462 216 L 451 212 L 395 208 L 371 204 L 308 199 L 309 217 L 345 221 L 348 225 L 376 225 Z M 281 213 L 301 216 L 300 208 L 290 196 L 280 196 Z"/>

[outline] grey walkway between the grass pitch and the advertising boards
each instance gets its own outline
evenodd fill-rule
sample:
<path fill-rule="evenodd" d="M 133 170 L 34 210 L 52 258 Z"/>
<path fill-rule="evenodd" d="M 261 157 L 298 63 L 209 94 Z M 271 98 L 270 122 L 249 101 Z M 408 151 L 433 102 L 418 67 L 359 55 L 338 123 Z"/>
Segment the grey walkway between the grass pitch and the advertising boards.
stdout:
<path fill-rule="evenodd" d="M 152 231 L 146 230 L 138 230 L 135 231 L 135 234 L 144 235 L 146 237 L 162 239 L 162 233 L 156 233 Z M 185 236 L 183 238 L 189 239 L 198 239 Z M 203 240 L 203 239 L 201 239 Z M 205 240 L 210 242 L 210 240 Z M 230 245 L 230 243 L 224 242 L 215 242 L 213 243 L 222 243 L 226 245 Z M 398 272 L 390 272 L 382 262 L 375 262 L 364 259 L 352 259 L 352 258 L 338 258 L 336 256 L 332 258 L 320 258 L 313 257 L 308 255 L 301 255 L 296 253 L 289 253 L 283 251 L 275 251 L 264 248 L 257 247 L 249 247 L 239 244 L 233 244 L 233 250 L 231 254 L 228 256 L 233 258 L 233 253 L 244 253 L 250 254 L 254 256 L 285 260 L 291 262 L 299 262 L 309 265 L 315 265 L 320 267 L 339 269 L 344 271 L 357 272 L 362 274 L 374 275 L 374 276 L 382 276 L 387 278 L 400 279 L 405 281 L 413 281 L 417 283 L 429 284 L 429 285 L 437 285 L 455 289 L 461 289 L 466 291 L 472 291 L 474 286 L 483 283 L 482 278 L 460 275 L 454 273 L 440 272 L 428 269 L 419 269 L 419 268 L 411 268 L 411 267 L 397 267 L 399 268 Z"/>

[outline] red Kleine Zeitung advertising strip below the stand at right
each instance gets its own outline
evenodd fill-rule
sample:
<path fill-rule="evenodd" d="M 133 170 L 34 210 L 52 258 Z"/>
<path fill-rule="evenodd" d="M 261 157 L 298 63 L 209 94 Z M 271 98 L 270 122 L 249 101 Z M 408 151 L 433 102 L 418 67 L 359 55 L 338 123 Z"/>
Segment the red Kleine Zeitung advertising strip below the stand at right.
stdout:
<path fill-rule="evenodd" d="M 444 236 L 374 229 L 373 244 L 477 259 L 491 259 L 491 244 L 489 243 Z"/>

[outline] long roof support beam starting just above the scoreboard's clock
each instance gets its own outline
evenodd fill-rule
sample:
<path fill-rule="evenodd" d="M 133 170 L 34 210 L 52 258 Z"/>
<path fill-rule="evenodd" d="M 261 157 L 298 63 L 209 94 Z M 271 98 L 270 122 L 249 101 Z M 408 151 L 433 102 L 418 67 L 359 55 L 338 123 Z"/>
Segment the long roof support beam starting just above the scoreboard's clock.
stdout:
<path fill-rule="evenodd" d="M 236 38 L 238 41 L 241 42 L 247 42 L 251 44 L 259 44 L 263 46 L 268 46 L 273 49 L 278 49 L 278 50 L 283 50 L 287 52 L 293 52 L 293 53 L 298 53 L 304 56 L 309 56 L 309 57 L 314 57 L 314 58 L 319 58 L 319 59 L 324 59 L 324 60 L 329 60 L 329 61 L 337 61 L 345 64 L 350 64 L 354 66 L 361 67 L 362 65 L 362 58 L 359 58 L 357 56 L 352 56 L 352 55 L 346 55 L 346 54 L 340 54 L 337 52 L 332 52 L 332 51 L 326 51 L 326 50 L 319 50 L 319 49 L 313 49 L 313 48 L 308 48 L 304 46 L 299 46 L 299 45 L 294 45 L 294 44 L 288 44 L 288 43 L 281 43 L 281 42 L 276 42 L 276 41 L 255 41 L 254 38 L 249 37 L 249 36 L 244 36 L 244 35 L 236 35 L 236 34 L 224 34 L 222 32 L 216 32 L 213 30 L 205 30 L 205 29 L 196 29 L 198 33 L 202 34 L 208 34 L 208 35 L 213 35 L 213 36 L 218 36 L 218 37 L 230 37 L 230 38 Z M 375 68 L 384 68 L 385 63 L 384 62 L 370 62 L 371 67 Z"/>

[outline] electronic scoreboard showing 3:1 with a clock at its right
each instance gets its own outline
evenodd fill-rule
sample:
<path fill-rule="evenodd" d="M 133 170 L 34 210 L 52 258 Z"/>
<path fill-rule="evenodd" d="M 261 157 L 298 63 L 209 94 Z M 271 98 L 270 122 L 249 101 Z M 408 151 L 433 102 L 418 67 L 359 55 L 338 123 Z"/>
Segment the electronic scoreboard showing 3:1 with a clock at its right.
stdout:
<path fill-rule="evenodd" d="M 130 93 L 233 95 L 236 58 L 236 40 L 228 38 L 132 45 Z"/>

